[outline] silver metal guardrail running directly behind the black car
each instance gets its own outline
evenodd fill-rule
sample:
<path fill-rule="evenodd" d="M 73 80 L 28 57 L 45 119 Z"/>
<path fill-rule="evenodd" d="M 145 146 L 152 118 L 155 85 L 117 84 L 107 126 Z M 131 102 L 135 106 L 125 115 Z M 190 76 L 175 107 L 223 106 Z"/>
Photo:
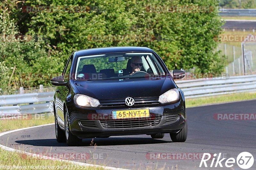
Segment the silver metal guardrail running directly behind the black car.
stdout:
<path fill-rule="evenodd" d="M 186 98 L 196 98 L 235 92 L 256 92 L 256 75 L 176 80 Z M 11 114 L 53 112 L 54 92 L 0 96 L 1 117 Z M 24 105 L 27 104 L 27 105 Z"/>

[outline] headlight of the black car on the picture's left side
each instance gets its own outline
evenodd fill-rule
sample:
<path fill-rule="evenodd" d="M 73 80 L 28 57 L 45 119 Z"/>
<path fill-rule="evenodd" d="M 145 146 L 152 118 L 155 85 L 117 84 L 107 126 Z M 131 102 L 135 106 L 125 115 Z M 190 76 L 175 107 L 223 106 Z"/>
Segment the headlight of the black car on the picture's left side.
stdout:
<path fill-rule="evenodd" d="M 82 107 L 97 107 L 100 105 L 99 100 L 83 94 L 76 94 L 74 97 L 74 101 L 76 105 L 82 106 Z"/>

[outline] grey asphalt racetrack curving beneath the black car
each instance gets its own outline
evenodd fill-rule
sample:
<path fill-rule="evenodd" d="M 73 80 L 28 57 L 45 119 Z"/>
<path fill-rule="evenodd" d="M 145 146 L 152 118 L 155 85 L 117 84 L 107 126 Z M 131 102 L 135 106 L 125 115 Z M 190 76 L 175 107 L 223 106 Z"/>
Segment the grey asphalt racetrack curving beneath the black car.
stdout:
<path fill-rule="evenodd" d="M 256 100 L 250 100 L 187 108 L 188 138 L 184 143 L 173 143 L 169 134 L 165 134 L 163 139 L 152 139 L 147 135 L 94 138 L 95 146 L 91 146 L 92 139 L 84 139 L 83 146 L 68 147 L 65 143 L 57 143 L 54 125 L 6 134 L 0 137 L 0 142 L 33 153 L 90 153 L 94 158 L 75 161 L 126 169 L 210 169 L 211 160 L 207 162 L 208 168 L 199 168 L 201 159 L 197 156 L 186 159 L 184 155 L 221 152 L 226 158 L 236 159 L 239 153 L 250 152 L 254 157 L 250 169 L 256 169 L 255 120 L 213 118 L 216 113 L 255 113 L 255 104 Z M 181 153 L 183 159 L 149 159 L 147 153 Z M 99 156 L 101 159 L 97 159 Z M 222 162 L 223 168 L 213 169 L 241 169 L 236 163 L 232 168 L 226 168 L 224 164 Z"/>

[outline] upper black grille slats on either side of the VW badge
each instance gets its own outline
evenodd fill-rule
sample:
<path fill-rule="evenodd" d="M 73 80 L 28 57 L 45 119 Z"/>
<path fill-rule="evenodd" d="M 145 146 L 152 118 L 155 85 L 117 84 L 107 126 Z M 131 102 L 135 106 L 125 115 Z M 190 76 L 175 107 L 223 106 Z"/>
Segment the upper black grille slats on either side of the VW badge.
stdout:
<path fill-rule="evenodd" d="M 157 105 L 158 97 L 135 97 L 134 99 L 134 106 L 140 105 Z M 126 106 L 125 99 L 110 99 L 110 100 L 100 100 L 100 107 L 121 107 Z"/>

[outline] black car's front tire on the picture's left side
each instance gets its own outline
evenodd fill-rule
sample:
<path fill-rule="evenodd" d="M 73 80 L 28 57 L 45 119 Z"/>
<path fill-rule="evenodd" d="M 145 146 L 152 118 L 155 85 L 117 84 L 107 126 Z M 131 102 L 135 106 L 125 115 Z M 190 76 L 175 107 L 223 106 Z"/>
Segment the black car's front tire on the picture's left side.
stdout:
<path fill-rule="evenodd" d="M 65 110 L 65 138 L 68 146 L 81 146 L 82 144 L 82 139 L 79 139 L 78 137 L 76 137 L 70 132 L 69 116 L 66 110 Z"/>

